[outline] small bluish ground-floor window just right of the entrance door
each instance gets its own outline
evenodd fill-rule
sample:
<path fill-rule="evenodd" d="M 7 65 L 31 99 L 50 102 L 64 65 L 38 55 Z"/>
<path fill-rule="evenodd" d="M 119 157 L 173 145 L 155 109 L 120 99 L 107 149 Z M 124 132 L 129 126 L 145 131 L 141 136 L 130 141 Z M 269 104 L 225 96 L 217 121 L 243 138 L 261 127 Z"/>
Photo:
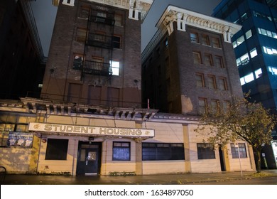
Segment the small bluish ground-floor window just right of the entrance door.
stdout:
<path fill-rule="evenodd" d="M 112 160 L 113 161 L 130 161 L 131 152 L 130 152 L 130 142 L 113 142 L 112 148 Z"/>

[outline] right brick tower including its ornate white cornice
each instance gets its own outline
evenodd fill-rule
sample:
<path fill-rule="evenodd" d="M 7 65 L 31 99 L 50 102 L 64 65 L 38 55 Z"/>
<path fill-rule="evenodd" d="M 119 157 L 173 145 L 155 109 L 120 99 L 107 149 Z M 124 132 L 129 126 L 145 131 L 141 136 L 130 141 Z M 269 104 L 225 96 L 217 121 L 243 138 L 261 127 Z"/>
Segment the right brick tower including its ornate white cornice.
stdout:
<path fill-rule="evenodd" d="M 149 99 L 161 112 L 197 115 L 242 96 L 231 44 L 240 26 L 174 6 L 156 26 L 142 54 L 143 102 Z"/>

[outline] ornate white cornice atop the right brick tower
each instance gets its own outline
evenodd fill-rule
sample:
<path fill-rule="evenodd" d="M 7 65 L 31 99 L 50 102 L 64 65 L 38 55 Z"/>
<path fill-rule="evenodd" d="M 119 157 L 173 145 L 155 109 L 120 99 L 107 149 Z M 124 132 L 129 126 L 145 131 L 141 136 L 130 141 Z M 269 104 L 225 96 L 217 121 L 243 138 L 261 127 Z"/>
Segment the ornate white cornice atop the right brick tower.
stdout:
<path fill-rule="evenodd" d="M 159 29 L 166 28 L 168 35 L 170 35 L 174 31 L 173 22 L 177 23 L 178 31 L 186 31 L 186 26 L 189 25 L 215 33 L 222 33 L 224 41 L 228 43 L 231 43 L 232 36 L 241 29 L 241 26 L 235 23 L 176 6 L 168 6 L 165 9 L 156 27 Z"/>

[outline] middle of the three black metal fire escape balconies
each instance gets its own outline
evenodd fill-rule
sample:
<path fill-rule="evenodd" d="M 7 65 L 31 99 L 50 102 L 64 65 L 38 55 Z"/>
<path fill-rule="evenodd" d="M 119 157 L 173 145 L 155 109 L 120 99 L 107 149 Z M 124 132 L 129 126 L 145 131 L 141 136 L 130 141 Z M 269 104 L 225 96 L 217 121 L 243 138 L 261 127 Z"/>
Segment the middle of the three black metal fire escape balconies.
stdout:
<path fill-rule="evenodd" d="M 86 44 L 99 48 L 112 48 L 112 37 L 89 33 Z"/>

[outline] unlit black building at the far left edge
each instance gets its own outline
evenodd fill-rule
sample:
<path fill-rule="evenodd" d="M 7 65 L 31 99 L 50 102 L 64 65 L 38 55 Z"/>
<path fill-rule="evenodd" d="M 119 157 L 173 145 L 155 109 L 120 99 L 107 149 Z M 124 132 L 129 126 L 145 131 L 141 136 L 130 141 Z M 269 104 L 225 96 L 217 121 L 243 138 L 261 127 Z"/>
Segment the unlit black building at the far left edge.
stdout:
<path fill-rule="evenodd" d="M 40 95 L 45 58 L 30 1 L 0 2 L 0 98 Z"/>

